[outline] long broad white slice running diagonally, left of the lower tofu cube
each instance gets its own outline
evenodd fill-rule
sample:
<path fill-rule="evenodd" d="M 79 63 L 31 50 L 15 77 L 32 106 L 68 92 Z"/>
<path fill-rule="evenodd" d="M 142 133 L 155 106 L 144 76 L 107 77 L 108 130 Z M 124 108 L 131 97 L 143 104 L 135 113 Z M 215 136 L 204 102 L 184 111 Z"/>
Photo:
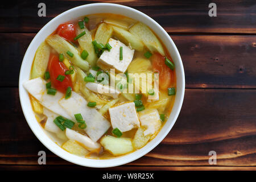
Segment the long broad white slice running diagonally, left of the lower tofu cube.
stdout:
<path fill-rule="evenodd" d="M 81 114 L 86 122 L 86 134 L 93 142 L 96 142 L 106 133 L 110 127 L 109 121 L 104 118 L 95 108 L 88 107 L 84 97 L 72 92 L 68 99 L 61 99 L 59 104 L 67 111 L 73 121 L 76 121 L 74 114 Z"/>

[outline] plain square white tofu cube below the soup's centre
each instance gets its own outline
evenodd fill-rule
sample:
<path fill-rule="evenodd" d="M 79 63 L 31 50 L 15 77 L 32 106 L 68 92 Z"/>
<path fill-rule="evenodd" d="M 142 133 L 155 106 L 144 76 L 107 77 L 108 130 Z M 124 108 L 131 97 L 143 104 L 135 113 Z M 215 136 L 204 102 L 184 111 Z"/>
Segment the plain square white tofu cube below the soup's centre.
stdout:
<path fill-rule="evenodd" d="M 139 119 L 134 102 L 111 107 L 109 108 L 109 114 L 113 129 L 117 127 L 120 131 L 125 132 L 139 127 Z"/>

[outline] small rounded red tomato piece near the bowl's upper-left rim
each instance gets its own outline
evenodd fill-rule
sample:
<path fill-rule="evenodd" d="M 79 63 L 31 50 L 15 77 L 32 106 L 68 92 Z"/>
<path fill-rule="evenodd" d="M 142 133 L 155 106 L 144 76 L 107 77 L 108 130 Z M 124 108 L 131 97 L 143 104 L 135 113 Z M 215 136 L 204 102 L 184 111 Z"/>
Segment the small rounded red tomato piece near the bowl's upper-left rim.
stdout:
<path fill-rule="evenodd" d="M 76 37 L 76 26 L 73 23 L 63 23 L 57 28 L 57 34 L 66 40 L 73 41 Z"/>

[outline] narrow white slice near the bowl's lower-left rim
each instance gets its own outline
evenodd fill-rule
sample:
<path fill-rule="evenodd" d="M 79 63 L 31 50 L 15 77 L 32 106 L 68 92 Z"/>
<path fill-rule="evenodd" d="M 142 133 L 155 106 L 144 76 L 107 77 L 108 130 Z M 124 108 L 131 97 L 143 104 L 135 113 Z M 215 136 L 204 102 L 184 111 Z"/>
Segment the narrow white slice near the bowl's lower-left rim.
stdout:
<path fill-rule="evenodd" d="M 101 147 L 100 144 L 93 142 L 89 137 L 68 128 L 66 129 L 66 136 L 70 140 L 76 140 L 89 151 L 97 150 Z"/>

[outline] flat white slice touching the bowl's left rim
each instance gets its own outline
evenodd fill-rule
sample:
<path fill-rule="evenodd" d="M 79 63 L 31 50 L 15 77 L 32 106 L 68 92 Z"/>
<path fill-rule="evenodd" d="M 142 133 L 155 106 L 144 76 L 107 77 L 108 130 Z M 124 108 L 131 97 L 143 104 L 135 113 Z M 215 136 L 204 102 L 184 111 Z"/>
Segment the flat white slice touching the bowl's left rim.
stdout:
<path fill-rule="evenodd" d="M 47 94 L 46 81 L 43 80 L 43 78 L 38 77 L 28 80 L 23 83 L 23 86 L 27 92 L 34 96 L 44 107 L 53 111 L 53 113 L 71 119 L 67 112 L 59 105 L 59 100 L 64 97 L 64 94 L 61 92 L 56 92 L 55 96 Z"/>

